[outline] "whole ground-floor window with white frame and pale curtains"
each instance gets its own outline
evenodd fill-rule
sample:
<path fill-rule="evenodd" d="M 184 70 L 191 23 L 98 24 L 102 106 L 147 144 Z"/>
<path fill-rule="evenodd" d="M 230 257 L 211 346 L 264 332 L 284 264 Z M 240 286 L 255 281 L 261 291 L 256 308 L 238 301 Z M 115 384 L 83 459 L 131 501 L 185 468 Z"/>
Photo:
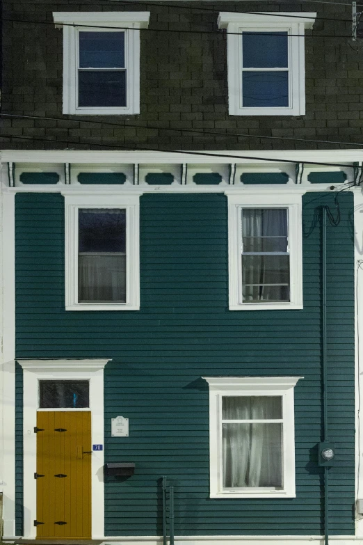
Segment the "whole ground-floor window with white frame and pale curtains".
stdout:
<path fill-rule="evenodd" d="M 294 497 L 293 387 L 299 377 L 204 378 L 211 497 Z"/>

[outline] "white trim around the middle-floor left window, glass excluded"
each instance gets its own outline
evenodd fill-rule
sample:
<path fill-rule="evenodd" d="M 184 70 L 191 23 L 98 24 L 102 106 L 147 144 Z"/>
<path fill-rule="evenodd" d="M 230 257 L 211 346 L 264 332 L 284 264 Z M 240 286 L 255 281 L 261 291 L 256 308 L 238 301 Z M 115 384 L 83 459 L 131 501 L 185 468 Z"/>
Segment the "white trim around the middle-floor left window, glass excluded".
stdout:
<path fill-rule="evenodd" d="M 126 303 L 79 303 L 78 301 L 79 208 L 126 210 Z M 139 194 L 65 196 L 65 310 L 140 309 L 139 208 Z"/>

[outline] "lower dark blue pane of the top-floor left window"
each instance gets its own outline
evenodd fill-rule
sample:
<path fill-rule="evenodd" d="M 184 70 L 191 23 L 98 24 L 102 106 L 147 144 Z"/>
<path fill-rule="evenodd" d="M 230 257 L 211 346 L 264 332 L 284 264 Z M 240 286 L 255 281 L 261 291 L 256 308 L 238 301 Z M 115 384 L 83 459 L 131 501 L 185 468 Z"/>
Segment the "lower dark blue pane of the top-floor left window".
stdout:
<path fill-rule="evenodd" d="M 79 106 L 126 106 L 126 72 L 79 70 Z"/>

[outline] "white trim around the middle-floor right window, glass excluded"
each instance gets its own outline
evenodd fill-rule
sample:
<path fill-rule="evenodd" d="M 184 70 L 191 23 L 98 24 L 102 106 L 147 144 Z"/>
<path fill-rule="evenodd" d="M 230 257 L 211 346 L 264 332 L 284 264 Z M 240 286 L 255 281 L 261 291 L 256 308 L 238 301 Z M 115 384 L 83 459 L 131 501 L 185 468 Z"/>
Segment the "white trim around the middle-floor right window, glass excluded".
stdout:
<path fill-rule="evenodd" d="M 301 193 L 228 196 L 229 310 L 283 310 L 302 306 L 302 204 Z M 290 301 L 243 303 L 241 281 L 241 208 L 289 210 Z"/>

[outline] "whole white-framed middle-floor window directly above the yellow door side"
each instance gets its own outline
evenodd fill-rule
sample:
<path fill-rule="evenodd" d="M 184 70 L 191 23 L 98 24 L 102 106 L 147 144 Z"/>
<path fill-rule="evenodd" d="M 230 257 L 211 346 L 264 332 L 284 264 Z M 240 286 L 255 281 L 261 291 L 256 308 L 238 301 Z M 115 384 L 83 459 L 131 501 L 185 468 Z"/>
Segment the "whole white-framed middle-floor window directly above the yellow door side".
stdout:
<path fill-rule="evenodd" d="M 138 196 L 66 196 L 65 221 L 66 310 L 138 310 Z"/>

